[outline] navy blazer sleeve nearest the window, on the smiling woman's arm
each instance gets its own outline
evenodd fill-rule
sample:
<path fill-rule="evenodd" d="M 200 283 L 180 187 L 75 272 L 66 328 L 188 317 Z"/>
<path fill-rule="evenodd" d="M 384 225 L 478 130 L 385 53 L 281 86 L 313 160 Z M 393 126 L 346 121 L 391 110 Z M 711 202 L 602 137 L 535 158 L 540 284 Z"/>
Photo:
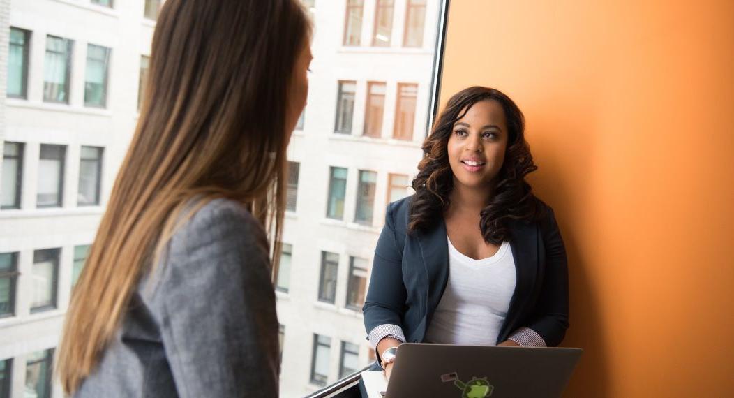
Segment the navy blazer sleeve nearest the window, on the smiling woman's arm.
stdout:
<path fill-rule="evenodd" d="M 365 305 L 362 308 L 367 333 L 381 325 L 401 327 L 407 292 L 403 283 L 402 250 L 395 235 L 394 206 L 388 206 L 385 226 L 377 240 Z M 377 341 L 371 341 L 377 344 Z"/>

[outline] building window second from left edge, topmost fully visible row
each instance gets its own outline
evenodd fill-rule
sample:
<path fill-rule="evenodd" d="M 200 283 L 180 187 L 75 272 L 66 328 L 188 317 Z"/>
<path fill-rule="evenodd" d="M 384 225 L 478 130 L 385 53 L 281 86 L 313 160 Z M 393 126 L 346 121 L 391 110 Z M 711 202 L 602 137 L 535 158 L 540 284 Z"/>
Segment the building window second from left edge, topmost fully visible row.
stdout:
<path fill-rule="evenodd" d="M 43 101 L 69 103 L 71 51 L 73 41 L 46 37 L 46 65 L 43 67 Z"/>

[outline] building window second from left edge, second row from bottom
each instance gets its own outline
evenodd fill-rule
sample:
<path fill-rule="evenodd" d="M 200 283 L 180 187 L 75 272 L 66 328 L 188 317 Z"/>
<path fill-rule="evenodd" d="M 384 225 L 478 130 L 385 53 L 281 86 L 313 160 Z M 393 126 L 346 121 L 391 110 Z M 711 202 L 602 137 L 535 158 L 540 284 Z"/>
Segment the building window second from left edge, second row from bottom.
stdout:
<path fill-rule="evenodd" d="M 31 312 L 56 308 L 61 249 L 36 250 L 33 253 L 33 300 Z"/>

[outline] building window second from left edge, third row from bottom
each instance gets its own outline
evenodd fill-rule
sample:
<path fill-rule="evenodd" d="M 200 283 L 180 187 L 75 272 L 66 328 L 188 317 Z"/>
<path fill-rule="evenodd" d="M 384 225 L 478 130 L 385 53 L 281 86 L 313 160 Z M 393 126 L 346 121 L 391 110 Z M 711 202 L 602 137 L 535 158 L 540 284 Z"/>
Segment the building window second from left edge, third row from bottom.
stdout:
<path fill-rule="evenodd" d="M 65 145 L 41 145 L 36 198 L 38 207 L 61 207 L 65 158 Z"/>

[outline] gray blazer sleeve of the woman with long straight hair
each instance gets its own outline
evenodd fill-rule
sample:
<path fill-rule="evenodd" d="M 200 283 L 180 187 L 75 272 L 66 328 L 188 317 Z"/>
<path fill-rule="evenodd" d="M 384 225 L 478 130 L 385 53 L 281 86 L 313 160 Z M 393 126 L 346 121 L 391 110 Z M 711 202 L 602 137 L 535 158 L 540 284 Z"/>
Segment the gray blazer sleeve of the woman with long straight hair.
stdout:
<path fill-rule="evenodd" d="M 269 254 L 259 222 L 214 200 L 173 237 L 161 269 L 161 339 L 181 397 L 277 397 Z"/>

